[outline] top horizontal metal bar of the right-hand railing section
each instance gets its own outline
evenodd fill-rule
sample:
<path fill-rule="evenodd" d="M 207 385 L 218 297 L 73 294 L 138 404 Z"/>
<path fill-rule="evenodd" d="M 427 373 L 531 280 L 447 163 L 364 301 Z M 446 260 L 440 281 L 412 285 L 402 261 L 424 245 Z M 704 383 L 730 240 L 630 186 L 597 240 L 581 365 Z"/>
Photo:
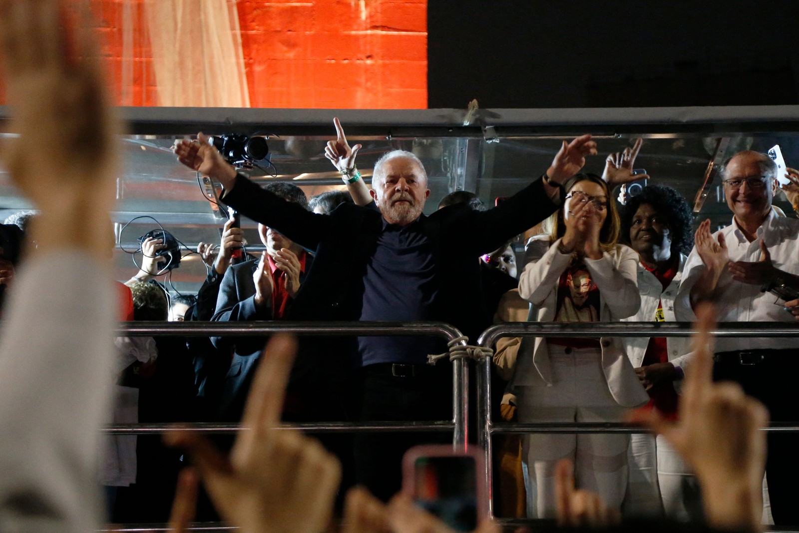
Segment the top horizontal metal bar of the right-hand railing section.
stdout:
<path fill-rule="evenodd" d="M 484 331 L 477 344 L 492 346 L 507 336 L 570 337 L 684 337 L 696 333 L 692 322 L 506 322 Z M 718 337 L 794 337 L 799 323 L 791 322 L 720 322 L 711 331 Z"/>

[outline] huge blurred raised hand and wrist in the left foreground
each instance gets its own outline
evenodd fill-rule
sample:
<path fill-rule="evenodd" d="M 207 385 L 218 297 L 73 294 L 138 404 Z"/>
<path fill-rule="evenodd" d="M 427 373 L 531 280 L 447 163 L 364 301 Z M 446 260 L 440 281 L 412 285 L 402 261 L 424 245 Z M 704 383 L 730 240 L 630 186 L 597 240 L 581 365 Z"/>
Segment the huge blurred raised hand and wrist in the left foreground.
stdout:
<path fill-rule="evenodd" d="M 3 141 L 3 163 L 39 211 L 29 237 L 37 242 L 37 253 L 77 246 L 107 258 L 113 249 L 108 213 L 115 201 L 115 136 L 121 127 L 105 92 L 101 54 L 89 25 L 78 30 L 81 25 L 67 17 L 59 2 L 28 3 L 0 2 L 6 94 L 14 109 L 7 129 L 18 133 Z M 22 14 L 25 10 L 30 13 Z M 34 19 L 38 37 L 30 38 L 27 22 Z M 39 28 L 44 26 L 58 37 L 42 38 Z M 72 32 L 70 38 L 65 31 Z M 58 172 L 31 165 L 31 146 L 46 146 L 48 157 L 58 161 Z"/>

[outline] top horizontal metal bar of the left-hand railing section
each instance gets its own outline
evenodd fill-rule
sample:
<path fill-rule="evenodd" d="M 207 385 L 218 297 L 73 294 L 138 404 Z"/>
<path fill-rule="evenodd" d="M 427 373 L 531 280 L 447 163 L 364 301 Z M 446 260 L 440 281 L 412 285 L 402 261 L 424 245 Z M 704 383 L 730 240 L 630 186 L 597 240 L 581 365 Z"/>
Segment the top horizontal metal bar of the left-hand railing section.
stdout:
<path fill-rule="evenodd" d="M 453 340 L 461 333 L 441 322 L 122 322 L 117 336 L 259 336 L 273 333 L 301 336 L 441 336 Z"/>

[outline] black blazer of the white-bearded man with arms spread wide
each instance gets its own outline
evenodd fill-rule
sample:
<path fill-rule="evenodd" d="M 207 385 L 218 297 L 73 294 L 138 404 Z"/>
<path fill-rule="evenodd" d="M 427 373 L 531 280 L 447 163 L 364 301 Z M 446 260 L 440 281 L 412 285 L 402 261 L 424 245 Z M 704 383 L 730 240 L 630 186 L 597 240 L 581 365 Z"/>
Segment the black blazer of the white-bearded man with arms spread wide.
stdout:
<path fill-rule="evenodd" d="M 359 320 L 363 277 L 383 229 L 378 210 L 342 204 L 328 215 L 311 213 L 241 174 L 223 201 L 316 253 L 286 320 Z M 498 249 L 558 208 L 539 178 L 494 209 L 479 212 L 467 205 L 451 205 L 429 217 L 422 215 L 423 232 L 440 274 L 435 320 L 459 328 L 475 341 L 491 324 L 489 311 L 481 304 L 479 256 Z M 401 293 L 403 287 L 396 290 Z"/>

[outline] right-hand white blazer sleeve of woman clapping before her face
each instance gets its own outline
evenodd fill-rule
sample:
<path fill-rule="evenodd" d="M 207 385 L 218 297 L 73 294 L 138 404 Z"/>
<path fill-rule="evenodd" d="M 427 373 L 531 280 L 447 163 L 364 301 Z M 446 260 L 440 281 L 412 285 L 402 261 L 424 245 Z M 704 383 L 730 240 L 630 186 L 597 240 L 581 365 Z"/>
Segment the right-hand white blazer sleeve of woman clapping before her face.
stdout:
<path fill-rule="evenodd" d="M 614 319 L 633 316 L 641 308 L 641 293 L 638 292 L 638 254 L 627 246 L 619 245 L 619 261 L 616 268 L 614 257 L 607 252 L 599 259 L 586 257 L 586 268 L 591 279 L 604 294 L 605 304 Z"/>

